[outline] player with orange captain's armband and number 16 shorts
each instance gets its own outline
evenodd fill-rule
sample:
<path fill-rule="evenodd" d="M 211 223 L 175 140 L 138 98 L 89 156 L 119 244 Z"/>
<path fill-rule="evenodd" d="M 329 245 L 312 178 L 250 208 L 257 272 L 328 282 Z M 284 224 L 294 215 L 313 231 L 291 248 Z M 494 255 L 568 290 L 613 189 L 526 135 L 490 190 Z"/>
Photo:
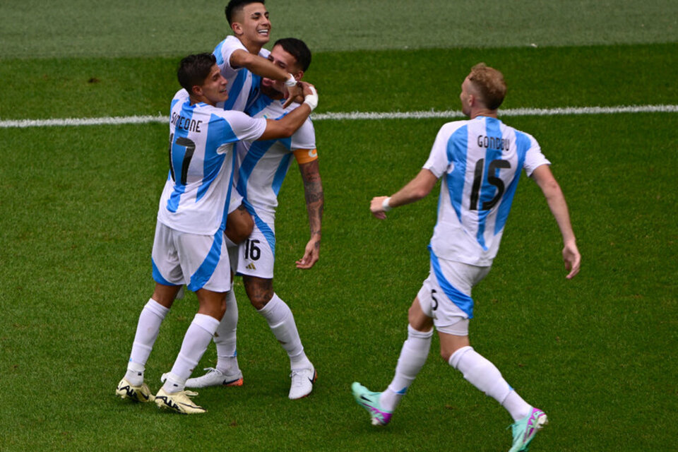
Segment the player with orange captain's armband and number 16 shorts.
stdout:
<path fill-rule="evenodd" d="M 311 63 L 311 52 L 304 42 L 294 38 L 278 40 L 268 58 L 276 66 L 290 71 L 297 80 L 304 76 Z M 283 83 L 270 78 L 261 81 L 261 95 L 246 113 L 255 118 L 280 118 L 295 111 L 298 104 L 283 107 Z M 275 209 L 278 191 L 292 164 L 292 156 L 299 164 L 304 181 L 311 237 L 304 256 L 296 262 L 297 268 L 314 266 L 319 258 L 321 221 L 323 214 L 323 186 L 318 167 L 316 137 L 310 119 L 292 135 L 291 139 L 270 141 L 241 141 L 237 145 L 239 171 L 237 190 L 244 204 L 254 216 L 255 227 L 249 239 L 239 245 L 237 272 L 242 275 L 247 296 L 252 306 L 266 319 L 271 331 L 290 357 L 292 384 L 290 399 L 307 396 L 313 389 L 316 370 L 304 353 L 295 318 L 290 307 L 273 291 L 273 264 L 275 261 Z M 239 386 L 242 371 L 235 352 L 236 334 L 224 319 L 214 341 L 217 345 L 216 368 L 189 379 L 189 388 L 206 386 Z"/>

